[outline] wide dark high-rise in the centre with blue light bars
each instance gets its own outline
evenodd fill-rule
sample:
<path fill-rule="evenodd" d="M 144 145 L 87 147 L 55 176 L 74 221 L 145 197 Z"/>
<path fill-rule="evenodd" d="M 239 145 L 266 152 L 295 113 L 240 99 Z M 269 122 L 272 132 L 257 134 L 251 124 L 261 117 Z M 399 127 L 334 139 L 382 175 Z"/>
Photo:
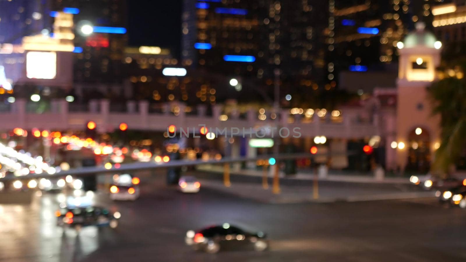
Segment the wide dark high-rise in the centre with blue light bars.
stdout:
<path fill-rule="evenodd" d="M 322 81 L 327 13 L 315 0 L 184 0 L 182 64 L 266 90 L 280 69 L 285 92 Z M 248 84 L 249 83 L 249 84 Z"/>

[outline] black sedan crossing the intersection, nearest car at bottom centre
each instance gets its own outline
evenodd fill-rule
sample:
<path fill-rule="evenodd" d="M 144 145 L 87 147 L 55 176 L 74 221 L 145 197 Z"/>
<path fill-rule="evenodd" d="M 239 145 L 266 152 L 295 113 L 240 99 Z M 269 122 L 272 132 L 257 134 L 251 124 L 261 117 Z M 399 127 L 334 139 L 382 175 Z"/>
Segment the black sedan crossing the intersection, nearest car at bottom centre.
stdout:
<path fill-rule="evenodd" d="M 217 253 L 224 245 L 252 245 L 256 251 L 264 251 L 268 248 L 266 234 L 263 232 L 250 233 L 229 223 L 211 226 L 197 231 L 186 232 L 185 242 L 195 250 L 207 253 Z"/>

